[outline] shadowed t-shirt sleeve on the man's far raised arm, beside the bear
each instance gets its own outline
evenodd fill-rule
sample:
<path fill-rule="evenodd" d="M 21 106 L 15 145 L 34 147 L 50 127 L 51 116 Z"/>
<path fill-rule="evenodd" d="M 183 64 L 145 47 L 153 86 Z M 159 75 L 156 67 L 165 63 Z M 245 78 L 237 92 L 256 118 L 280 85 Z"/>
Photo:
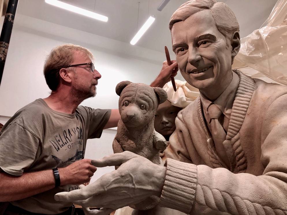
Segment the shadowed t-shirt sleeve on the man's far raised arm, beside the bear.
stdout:
<path fill-rule="evenodd" d="M 85 130 L 88 133 L 87 139 L 100 138 L 103 128 L 111 116 L 111 109 L 94 109 L 79 106 L 79 110 L 87 117 L 85 123 Z"/>

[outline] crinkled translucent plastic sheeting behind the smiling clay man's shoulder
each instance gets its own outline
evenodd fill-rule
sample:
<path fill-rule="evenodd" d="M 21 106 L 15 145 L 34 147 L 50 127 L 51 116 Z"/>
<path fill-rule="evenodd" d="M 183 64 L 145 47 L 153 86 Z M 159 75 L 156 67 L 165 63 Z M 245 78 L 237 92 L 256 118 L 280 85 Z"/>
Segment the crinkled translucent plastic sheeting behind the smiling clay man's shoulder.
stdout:
<path fill-rule="evenodd" d="M 262 27 L 241 39 L 232 68 L 287 85 L 287 0 L 278 0 Z"/>

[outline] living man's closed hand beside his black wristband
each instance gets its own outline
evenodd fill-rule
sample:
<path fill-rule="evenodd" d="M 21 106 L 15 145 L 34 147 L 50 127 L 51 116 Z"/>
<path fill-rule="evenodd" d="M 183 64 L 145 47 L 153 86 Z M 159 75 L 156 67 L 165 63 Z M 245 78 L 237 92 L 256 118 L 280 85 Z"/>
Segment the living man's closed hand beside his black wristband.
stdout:
<path fill-rule="evenodd" d="M 79 185 L 89 182 L 97 167 L 92 165 L 90 159 L 76 161 L 67 167 L 59 168 L 61 185 Z"/>

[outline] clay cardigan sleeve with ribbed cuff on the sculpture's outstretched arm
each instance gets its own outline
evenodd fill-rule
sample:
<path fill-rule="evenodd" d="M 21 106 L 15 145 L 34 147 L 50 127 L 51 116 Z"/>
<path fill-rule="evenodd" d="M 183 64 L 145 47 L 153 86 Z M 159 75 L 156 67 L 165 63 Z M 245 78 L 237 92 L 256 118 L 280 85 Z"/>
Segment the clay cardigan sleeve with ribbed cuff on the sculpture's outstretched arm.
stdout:
<path fill-rule="evenodd" d="M 161 206 L 187 214 L 287 214 L 287 96 L 261 126 L 261 176 L 167 159 Z"/>

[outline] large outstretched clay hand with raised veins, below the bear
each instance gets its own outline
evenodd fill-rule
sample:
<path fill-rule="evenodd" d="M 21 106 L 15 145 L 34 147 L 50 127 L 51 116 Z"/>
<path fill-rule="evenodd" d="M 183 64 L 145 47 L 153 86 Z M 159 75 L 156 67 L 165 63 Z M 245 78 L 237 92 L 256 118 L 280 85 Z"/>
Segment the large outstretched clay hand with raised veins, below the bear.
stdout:
<path fill-rule="evenodd" d="M 139 203 L 150 196 L 160 197 L 166 167 L 125 151 L 101 160 L 92 160 L 96 167 L 120 166 L 96 182 L 81 189 L 57 193 L 55 200 L 74 202 L 83 207 L 118 209 Z M 107 210 L 107 209 L 106 209 Z"/>

